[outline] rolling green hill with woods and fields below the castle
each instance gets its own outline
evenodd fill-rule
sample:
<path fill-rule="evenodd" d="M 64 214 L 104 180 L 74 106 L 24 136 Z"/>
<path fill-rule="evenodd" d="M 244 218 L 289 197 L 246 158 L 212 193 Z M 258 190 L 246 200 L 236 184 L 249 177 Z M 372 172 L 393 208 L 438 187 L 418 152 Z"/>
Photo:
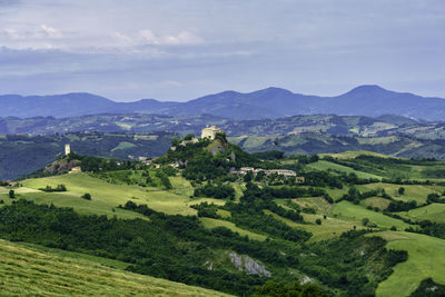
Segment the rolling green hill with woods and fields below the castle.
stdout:
<path fill-rule="evenodd" d="M 220 135 L 137 165 L 0 187 L 2 238 L 238 295 L 268 280 L 309 279 L 334 296 L 408 296 L 428 277 L 445 284 L 443 161 L 248 155 Z M 305 179 L 237 171 L 247 166 Z M 67 190 L 44 191 L 58 185 Z"/>

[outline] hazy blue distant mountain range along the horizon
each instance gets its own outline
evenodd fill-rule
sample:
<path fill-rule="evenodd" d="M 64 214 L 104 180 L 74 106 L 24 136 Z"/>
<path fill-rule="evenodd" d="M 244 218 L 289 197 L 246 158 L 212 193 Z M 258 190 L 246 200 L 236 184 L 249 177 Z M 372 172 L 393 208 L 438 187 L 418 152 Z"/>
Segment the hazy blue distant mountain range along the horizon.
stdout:
<path fill-rule="evenodd" d="M 156 113 L 169 116 L 214 115 L 235 120 L 280 118 L 295 115 L 342 115 L 378 117 L 398 115 L 424 120 L 445 119 L 445 99 L 360 86 L 336 97 L 294 93 L 267 88 L 249 93 L 225 91 L 187 102 L 142 99 L 116 102 L 91 93 L 55 96 L 0 96 L 0 117 L 78 117 L 95 113 Z"/>

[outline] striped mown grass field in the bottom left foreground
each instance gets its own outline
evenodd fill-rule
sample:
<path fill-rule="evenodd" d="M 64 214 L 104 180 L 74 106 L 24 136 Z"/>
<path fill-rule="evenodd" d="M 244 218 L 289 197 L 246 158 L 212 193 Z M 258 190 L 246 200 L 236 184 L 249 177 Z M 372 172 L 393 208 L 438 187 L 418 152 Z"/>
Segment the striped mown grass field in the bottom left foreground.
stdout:
<path fill-rule="evenodd" d="M 0 240 L 1 296 L 228 296 Z"/>

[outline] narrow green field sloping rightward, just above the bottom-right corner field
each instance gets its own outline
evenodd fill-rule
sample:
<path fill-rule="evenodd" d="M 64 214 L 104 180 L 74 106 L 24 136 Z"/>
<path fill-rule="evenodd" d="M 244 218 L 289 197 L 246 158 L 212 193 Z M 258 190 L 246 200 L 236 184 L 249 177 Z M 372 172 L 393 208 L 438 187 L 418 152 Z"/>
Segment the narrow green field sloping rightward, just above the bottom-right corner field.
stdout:
<path fill-rule="evenodd" d="M 332 211 L 332 215 L 340 219 L 355 219 L 358 221 L 362 221 L 362 219 L 364 218 L 368 218 L 372 222 L 375 222 L 379 228 L 389 229 L 390 227 L 395 226 L 397 230 L 405 230 L 405 228 L 409 227 L 408 224 L 399 219 L 394 219 L 380 212 L 368 210 L 363 206 L 354 205 L 349 201 L 342 201 L 339 204 L 336 204 Z"/>

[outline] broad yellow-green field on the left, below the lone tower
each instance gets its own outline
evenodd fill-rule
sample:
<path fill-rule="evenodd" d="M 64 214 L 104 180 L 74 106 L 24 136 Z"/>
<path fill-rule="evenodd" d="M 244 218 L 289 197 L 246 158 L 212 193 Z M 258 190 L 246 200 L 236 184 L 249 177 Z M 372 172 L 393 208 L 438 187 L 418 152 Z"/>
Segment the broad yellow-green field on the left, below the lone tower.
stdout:
<path fill-rule="evenodd" d="M 174 186 L 188 185 L 181 178 L 172 178 Z M 56 187 L 59 184 L 67 186 L 67 192 L 42 192 L 39 188 L 47 185 Z M 55 204 L 56 206 L 75 207 L 82 214 L 99 214 L 130 218 L 139 215 L 118 209 L 117 206 L 132 200 L 137 204 L 147 204 L 150 208 L 166 214 L 195 215 L 196 210 L 186 204 L 188 196 L 175 194 L 175 189 L 149 190 L 147 188 L 128 185 L 112 185 L 88 174 L 72 174 L 47 178 L 27 179 L 23 187 L 17 189 L 19 195 L 36 202 Z M 80 198 L 85 192 L 91 194 L 92 199 Z M 113 211 L 115 209 L 115 211 Z"/>

